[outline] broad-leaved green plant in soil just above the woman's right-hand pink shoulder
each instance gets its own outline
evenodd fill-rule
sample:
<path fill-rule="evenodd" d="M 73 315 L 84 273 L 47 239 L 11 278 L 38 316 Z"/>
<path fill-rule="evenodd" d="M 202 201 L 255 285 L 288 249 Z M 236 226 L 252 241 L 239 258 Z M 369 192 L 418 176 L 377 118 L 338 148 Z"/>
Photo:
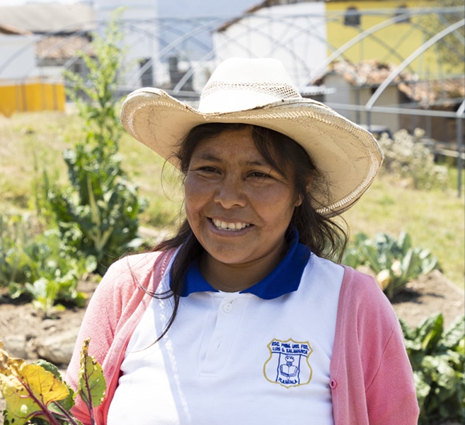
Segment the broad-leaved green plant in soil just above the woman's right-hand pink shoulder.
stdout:
<path fill-rule="evenodd" d="M 413 248 L 410 235 L 401 232 L 398 238 L 387 233 L 377 233 L 369 239 L 357 233 L 352 245 L 346 250 L 343 263 L 357 268 L 367 266 L 374 274 L 380 288 L 389 299 L 408 281 L 437 268 L 437 258 L 429 250 Z"/>

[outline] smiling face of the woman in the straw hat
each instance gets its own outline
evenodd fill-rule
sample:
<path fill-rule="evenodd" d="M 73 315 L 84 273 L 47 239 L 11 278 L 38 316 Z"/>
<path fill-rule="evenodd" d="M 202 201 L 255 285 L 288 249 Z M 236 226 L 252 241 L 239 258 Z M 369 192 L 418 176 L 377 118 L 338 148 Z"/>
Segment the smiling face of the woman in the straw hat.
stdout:
<path fill-rule="evenodd" d="M 292 170 L 287 176 L 265 162 L 250 127 L 199 142 L 185 178 L 185 212 L 207 264 L 254 267 L 264 275 L 275 267 L 300 204 Z"/>

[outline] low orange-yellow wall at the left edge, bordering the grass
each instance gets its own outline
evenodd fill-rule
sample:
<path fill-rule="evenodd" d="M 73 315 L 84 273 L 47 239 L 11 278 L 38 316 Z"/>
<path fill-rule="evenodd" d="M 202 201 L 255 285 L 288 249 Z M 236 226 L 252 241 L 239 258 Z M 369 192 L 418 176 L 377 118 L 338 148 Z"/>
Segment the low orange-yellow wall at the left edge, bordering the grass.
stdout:
<path fill-rule="evenodd" d="M 10 117 L 14 112 L 64 111 L 62 83 L 24 83 L 0 86 L 0 113 Z"/>

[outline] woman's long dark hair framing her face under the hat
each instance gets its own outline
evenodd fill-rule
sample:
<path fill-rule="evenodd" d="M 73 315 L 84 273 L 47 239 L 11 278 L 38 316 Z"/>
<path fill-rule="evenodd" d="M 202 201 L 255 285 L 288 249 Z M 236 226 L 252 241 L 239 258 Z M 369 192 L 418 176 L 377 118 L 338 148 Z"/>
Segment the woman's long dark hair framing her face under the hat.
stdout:
<path fill-rule="evenodd" d="M 181 141 L 176 153 L 183 175 L 188 172 L 190 158 L 200 141 L 211 139 L 226 130 L 239 131 L 247 127 L 252 128 L 253 141 L 258 151 L 273 168 L 284 177 L 289 178 L 287 175 L 289 165 L 292 166 L 294 187 L 297 195 L 302 198 L 302 204 L 294 209 L 290 224 L 294 225 L 299 231 L 299 242 L 309 246 L 311 252 L 320 257 L 340 260 L 348 235 L 338 223 L 316 212 L 313 206 L 315 201 L 312 192 L 322 192 L 327 189 L 318 187 L 316 182 L 323 179 L 316 178 L 320 174 L 316 170 L 314 163 L 312 163 L 309 154 L 288 136 L 265 127 L 249 124 L 201 124 L 194 127 Z M 308 187 L 310 187 L 310 190 L 308 190 Z M 173 238 L 163 240 L 154 247 L 154 250 L 164 251 L 171 248 L 179 248 L 171 267 L 171 290 L 163 294 L 152 294 L 159 298 L 173 296 L 173 315 L 168 320 L 161 337 L 166 334 L 176 317 L 186 269 L 193 261 L 198 260 L 204 252 L 187 220 L 183 221 Z"/>

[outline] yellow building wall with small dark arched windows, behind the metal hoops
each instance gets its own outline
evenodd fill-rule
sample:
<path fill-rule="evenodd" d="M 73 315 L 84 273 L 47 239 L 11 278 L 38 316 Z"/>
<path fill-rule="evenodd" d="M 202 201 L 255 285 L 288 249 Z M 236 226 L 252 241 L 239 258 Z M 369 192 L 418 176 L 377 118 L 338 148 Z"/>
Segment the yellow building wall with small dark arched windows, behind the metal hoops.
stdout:
<path fill-rule="evenodd" d="M 327 40 L 328 43 L 338 48 L 348 42 L 352 37 L 360 34 L 360 28 L 367 30 L 374 25 L 386 20 L 386 16 L 381 15 L 363 15 L 363 11 L 392 9 L 391 15 L 398 6 L 407 6 L 407 8 L 420 8 L 423 6 L 431 7 L 430 1 L 331 1 L 326 3 L 326 13 L 328 16 Z M 362 12 L 360 28 L 344 25 L 344 11 L 348 7 L 356 7 Z M 380 62 L 400 64 L 414 52 L 424 40 L 423 33 L 415 28 L 415 23 L 422 19 L 420 16 L 412 16 L 410 23 L 395 23 L 377 31 L 373 36 L 364 38 L 360 43 L 351 47 L 344 53 L 344 59 L 350 62 L 362 62 L 367 59 L 378 59 Z M 389 52 L 391 47 L 394 52 Z M 333 49 L 328 50 L 328 55 L 333 53 Z M 441 71 L 442 69 L 442 71 Z M 434 47 L 430 48 L 422 57 L 415 60 L 410 68 L 406 71 L 414 72 L 420 77 L 439 78 L 444 68 L 441 68 L 440 61 Z"/>

